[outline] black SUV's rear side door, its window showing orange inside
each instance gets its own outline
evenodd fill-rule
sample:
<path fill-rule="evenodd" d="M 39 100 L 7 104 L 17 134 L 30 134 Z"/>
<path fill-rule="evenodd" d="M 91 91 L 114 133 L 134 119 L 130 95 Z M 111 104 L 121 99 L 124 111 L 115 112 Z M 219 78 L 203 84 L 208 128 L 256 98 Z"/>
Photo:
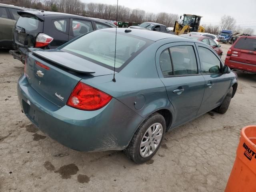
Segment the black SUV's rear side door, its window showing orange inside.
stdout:
<path fill-rule="evenodd" d="M 68 40 L 72 40 L 93 30 L 94 29 L 91 21 L 72 18 L 70 19 L 70 32 Z"/>

